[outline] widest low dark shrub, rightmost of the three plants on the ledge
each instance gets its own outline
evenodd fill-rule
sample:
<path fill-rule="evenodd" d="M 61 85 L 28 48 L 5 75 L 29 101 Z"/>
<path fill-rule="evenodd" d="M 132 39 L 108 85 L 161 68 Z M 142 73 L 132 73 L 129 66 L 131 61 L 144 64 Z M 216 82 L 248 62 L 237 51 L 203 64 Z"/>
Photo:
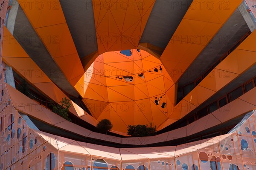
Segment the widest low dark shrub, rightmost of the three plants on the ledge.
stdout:
<path fill-rule="evenodd" d="M 143 137 L 143 136 L 153 136 L 156 135 L 156 126 L 152 126 L 152 123 L 150 123 L 150 126 L 148 125 L 128 125 L 127 134 L 131 135 L 132 137 Z"/>

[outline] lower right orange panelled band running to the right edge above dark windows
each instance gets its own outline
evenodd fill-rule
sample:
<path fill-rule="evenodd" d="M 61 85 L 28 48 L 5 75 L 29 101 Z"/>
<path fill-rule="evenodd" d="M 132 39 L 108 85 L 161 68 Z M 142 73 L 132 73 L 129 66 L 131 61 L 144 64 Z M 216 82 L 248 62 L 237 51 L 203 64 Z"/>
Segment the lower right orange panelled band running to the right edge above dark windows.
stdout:
<path fill-rule="evenodd" d="M 183 118 L 235 78 L 255 66 L 256 47 L 250 45 L 256 42 L 255 36 L 256 31 L 248 37 L 248 40 L 244 40 L 227 58 L 221 61 L 182 101 L 172 107 L 172 111 L 168 112 L 169 120 L 173 122 L 175 119 Z M 229 118 L 230 116 L 232 115 L 228 115 Z M 164 123 L 157 130 L 166 126 L 168 124 Z"/>

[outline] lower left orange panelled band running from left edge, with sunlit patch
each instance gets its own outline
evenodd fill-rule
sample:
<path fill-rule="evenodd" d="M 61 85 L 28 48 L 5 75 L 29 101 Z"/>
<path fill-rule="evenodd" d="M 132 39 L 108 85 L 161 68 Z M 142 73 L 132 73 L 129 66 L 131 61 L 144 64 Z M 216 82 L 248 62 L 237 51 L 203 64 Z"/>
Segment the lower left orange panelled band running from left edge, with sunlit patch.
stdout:
<path fill-rule="evenodd" d="M 55 102 L 59 102 L 62 98 L 68 98 L 61 89 L 59 89 L 48 76 L 36 65 L 36 63 L 29 58 L 20 44 L 15 40 L 15 38 L 10 34 L 9 30 L 4 27 L 5 39 L 3 40 L 3 61 L 12 69 L 15 70 L 21 77 L 25 78 L 29 83 L 32 84 L 38 91 L 42 94 L 48 96 Z M 17 50 L 13 50 L 17 49 Z M 72 112 L 77 117 L 82 117 L 88 123 L 96 126 L 98 121 L 95 118 L 88 115 L 87 112 L 81 110 L 74 102 L 70 101 L 71 107 L 70 112 Z M 54 116 L 54 115 L 53 115 Z M 89 116 L 89 118 L 88 118 Z"/>

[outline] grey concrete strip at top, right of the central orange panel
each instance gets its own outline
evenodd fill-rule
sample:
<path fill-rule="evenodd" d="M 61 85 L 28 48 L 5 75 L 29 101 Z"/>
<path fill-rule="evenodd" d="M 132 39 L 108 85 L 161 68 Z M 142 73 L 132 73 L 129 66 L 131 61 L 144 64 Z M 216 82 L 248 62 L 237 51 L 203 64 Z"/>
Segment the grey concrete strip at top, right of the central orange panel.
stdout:
<path fill-rule="evenodd" d="M 192 0 L 156 0 L 140 43 L 166 48 Z"/>

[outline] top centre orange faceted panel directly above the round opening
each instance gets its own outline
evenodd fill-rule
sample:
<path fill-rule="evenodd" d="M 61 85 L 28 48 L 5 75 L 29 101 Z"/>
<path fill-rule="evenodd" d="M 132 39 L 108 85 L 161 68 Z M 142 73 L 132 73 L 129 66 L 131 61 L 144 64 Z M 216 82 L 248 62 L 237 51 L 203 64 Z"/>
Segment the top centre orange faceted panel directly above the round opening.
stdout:
<path fill-rule="evenodd" d="M 155 0 L 93 0 L 99 54 L 137 48 Z"/>

